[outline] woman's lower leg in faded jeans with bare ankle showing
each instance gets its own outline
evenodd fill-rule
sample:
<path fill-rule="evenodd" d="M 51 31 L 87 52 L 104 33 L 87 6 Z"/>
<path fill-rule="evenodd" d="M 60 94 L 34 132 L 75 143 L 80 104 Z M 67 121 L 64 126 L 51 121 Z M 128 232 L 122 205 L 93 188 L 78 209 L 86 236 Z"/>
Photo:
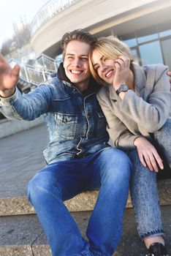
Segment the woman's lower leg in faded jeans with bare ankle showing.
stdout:
<path fill-rule="evenodd" d="M 153 242 L 164 244 L 156 173 L 140 163 L 137 150 L 129 151 L 128 155 L 133 164 L 130 192 L 137 231 L 147 248 Z"/>

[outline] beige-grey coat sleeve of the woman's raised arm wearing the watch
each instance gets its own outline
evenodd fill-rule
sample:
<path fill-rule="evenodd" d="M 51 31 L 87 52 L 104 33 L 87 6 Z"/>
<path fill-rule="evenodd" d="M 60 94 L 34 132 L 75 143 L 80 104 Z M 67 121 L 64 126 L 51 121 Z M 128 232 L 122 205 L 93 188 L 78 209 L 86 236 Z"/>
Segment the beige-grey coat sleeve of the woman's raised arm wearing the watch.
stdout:
<path fill-rule="evenodd" d="M 145 86 L 146 94 L 148 94 L 147 100 L 129 90 L 123 98 L 121 111 L 132 118 L 142 129 L 147 132 L 156 132 L 170 116 L 170 80 L 166 75 L 166 66 L 157 65 L 153 72 L 151 68 L 153 67 L 149 66 L 149 74 L 154 75 L 149 75 Z"/>

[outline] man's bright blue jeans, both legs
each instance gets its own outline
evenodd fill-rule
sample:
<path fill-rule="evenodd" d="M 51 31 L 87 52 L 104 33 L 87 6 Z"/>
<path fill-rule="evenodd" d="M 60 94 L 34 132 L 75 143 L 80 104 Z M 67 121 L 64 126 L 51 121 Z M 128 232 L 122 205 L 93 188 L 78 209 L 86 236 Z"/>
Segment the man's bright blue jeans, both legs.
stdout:
<path fill-rule="evenodd" d="M 28 199 L 37 211 L 53 256 L 113 255 L 121 239 L 131 168 L 123 151 L 109 147 L 84 159 L 47 165 L 29 181 Z M 86 241 L 63 201 L 98 188 Z"/>

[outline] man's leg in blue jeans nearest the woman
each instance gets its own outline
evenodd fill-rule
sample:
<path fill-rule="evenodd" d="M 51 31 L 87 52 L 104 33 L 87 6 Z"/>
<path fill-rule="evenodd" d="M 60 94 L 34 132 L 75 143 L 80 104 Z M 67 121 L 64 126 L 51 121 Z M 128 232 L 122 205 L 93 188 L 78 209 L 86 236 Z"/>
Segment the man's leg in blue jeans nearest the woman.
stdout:
<path fill-rule="evenodd" d="M 91 252 L 94 256 L 113 255 L 121 240 L 132 164 L 123 151 L 111 147 L 102 150 L 88 165 L 91 189 L 100 187 L 87 228 Z"/>

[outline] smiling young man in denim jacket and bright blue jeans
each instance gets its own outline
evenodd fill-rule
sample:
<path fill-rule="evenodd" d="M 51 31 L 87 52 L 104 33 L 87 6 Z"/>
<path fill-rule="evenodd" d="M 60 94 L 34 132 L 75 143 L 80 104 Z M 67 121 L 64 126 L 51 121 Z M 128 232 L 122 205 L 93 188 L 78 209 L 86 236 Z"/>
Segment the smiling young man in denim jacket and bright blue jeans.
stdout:
<path fill-rule="evenodd" d="M 15 87 L 19 67 L 0 59 L 0 110 L 7 118 L 32 120 L 45 114 L 50 143 L 47 166 L 28 184 L 31 201 L 53 256 L 113 255 L 122 233 L 131 163 L 107 144 L 106 120 L 96 100 L 99 85 L 91 78 L 88 53 L 94 37 L 86 31 L 62 39 L 64 64 L 57 77 L 29 94 Z M 99 188 L 83 239 L 63 201 Z"/>

